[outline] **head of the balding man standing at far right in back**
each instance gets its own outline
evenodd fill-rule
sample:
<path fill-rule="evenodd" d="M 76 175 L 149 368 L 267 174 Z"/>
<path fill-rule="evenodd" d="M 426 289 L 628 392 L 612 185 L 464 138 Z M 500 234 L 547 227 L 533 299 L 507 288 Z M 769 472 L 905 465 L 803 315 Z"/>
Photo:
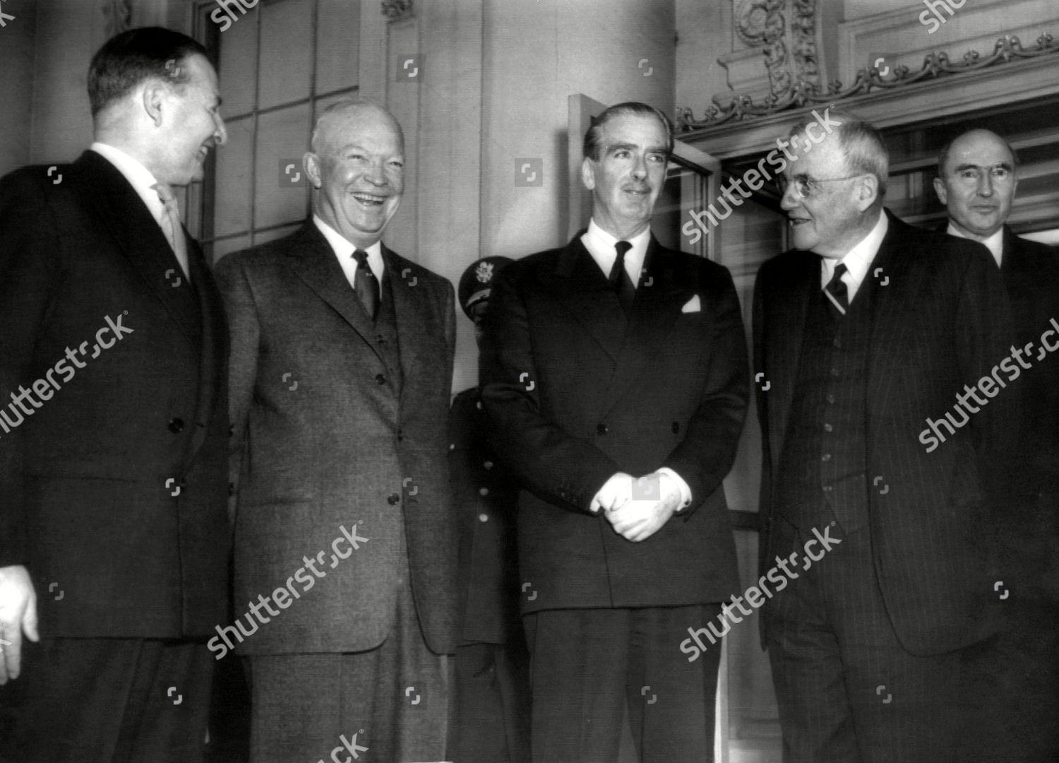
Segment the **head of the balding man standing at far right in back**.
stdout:
<path fill-rule="evenodd" d="M 1010 144 L 995 132 L 964 132 L 938 156 L 934 191 L 956 230 L 985 241 L 1011 213 L 1018 180 L 1018 159 Z"/>

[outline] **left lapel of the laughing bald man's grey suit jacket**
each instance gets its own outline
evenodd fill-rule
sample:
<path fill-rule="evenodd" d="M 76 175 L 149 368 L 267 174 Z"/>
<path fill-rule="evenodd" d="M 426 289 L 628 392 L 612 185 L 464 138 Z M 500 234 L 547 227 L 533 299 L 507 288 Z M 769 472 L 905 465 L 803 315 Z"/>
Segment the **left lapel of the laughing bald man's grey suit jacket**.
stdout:
<path fill-rule="evenodd" d="M 371 348 L 379 362 L 385 362 L 375 348 L 375 324 L 360 303 L 357 292 L 349 286 L 342 267 L 335 258 L 335 250 L 324 234 L 307 220 L 291 242 L 291 267 L 305 285 L 326 302 Z"/>

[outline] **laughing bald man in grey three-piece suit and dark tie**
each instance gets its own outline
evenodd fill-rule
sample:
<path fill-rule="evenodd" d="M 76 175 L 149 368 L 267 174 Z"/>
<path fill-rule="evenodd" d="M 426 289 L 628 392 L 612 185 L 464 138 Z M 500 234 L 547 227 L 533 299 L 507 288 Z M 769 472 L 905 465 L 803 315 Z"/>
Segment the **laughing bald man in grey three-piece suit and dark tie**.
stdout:
<path fill-rule="evenodd" d="M 400 205 L 403 148 L 379 106 L 329 106 L 304 158 L 312 218 L 217 266 L 232 336 L 238 629 L 211 643 L 249 655 L 255 762 L 445 755 L 455 315 L 448 281 L 380 241 Z"/>

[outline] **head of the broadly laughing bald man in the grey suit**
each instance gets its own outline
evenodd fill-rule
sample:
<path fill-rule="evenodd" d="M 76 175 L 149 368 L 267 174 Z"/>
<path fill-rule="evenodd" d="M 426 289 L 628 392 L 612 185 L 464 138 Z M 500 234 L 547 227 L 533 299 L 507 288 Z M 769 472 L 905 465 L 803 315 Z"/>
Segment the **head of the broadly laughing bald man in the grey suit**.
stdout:
<path fill-rule="evenodd" d="M 367 101 L 331 104 L 304 165 L 324 223 L 359 249 L 381 238 L 405 192 L 405 137 L 393 114 Z"/>

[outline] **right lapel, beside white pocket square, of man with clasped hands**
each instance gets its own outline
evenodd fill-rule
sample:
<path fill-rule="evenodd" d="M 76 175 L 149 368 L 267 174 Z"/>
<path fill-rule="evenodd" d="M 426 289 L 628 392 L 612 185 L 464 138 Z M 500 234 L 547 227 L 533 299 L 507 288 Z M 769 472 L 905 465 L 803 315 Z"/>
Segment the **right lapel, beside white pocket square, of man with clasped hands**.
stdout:
<path fill-rule="evenodd" d="M 604 415 L 647 371 L 660 347 L 659 337 L 666 335 L 681 315 L 681 307 L 696 292 L 696 285 L 686 278 L 687 273 L 685 278 L 677 278 L 675 264 L 652 235 L 617 365 L 604 395 Z"/>

